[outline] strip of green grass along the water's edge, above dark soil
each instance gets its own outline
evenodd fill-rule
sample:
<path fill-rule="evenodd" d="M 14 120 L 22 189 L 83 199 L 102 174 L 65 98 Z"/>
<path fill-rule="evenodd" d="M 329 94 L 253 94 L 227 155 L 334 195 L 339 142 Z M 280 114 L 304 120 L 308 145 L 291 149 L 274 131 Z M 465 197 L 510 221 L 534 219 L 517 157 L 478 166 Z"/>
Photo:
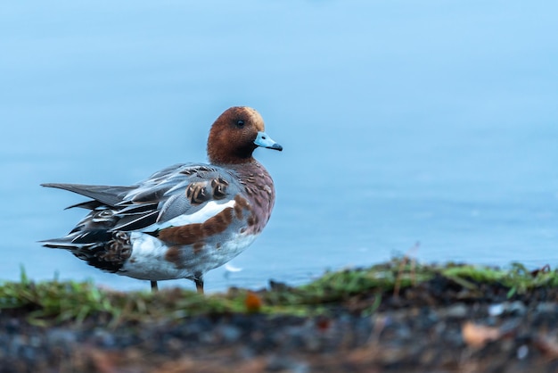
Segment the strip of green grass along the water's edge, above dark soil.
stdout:
<path fill-rule="evenodd" d="M 472 290 L 481 284 L 499 284 L 508 289 L 509 297 L 537 287 L 558 287 L 556 270 L 542 269 L 532 273 L 518 263 L 509 269 L 498 269 L 458 264 L 423 265 L 398 258 L 370 268 L 326 272 L 303 286 L 276 286 L 273 290 L 258 292 L 256 298 L 250 298 L 250 303 L 250 292 L 245 289 L 205 296 L 184 289 L 154 294 L 150 291 L 123 293 L 99 288 L 92 282 L 57 279 L 34 282 L 22 270 L 19 282 L 0 283 L 0 310 L 24 314 L 36 325 L 80 323 L 90 317 L 118 325 L 119 322 L 250 311 L 304 316 L 327 311 L 332 304 L 342 303 L 357 294 L 397 295 L 406 287 L 417 286 L 435 276 Z M 381 296 L 371 311 L 379 305 Z"/>

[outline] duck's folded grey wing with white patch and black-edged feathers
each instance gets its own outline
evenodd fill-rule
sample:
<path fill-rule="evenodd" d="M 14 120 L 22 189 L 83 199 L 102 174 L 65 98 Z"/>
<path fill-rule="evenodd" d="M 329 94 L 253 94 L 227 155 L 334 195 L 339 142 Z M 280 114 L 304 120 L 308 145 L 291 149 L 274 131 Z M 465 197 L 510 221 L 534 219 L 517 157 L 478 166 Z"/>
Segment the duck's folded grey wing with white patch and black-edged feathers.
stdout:
<path fill-rule="evenodd" d="M 44 184 L 92 198 L 70 207 L 92 212 L 72 232 L 160 229 L 201 223 L 233 200 L 240 184 L 230 170 L 205 164 L 176 164 L 131 187 Z M 103 213 L 102 213 L 103 212 Z M 179 220 L 176 218 L 180 217 Z"/>

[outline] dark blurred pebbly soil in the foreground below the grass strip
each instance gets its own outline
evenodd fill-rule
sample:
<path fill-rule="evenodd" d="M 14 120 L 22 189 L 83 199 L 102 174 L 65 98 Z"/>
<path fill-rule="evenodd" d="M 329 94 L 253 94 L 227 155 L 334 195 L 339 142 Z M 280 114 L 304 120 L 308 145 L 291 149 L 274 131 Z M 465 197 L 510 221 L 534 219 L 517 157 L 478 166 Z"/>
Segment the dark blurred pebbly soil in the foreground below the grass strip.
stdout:
<path fill-rule="evenodd" d="M 259 313 L 29 325 L 0 313 L 0 372 L 556 372 L 558 290 L 508 297 L 436 277 L 321 316 Z"/>

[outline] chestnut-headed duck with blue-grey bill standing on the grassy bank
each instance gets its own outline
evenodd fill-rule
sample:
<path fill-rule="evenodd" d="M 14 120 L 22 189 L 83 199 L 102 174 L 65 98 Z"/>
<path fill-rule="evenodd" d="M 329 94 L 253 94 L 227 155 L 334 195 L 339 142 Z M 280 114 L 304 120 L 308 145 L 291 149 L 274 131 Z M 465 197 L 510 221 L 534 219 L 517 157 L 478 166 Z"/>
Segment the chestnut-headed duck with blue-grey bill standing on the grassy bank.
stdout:
<path fill-rule="evenodd" d="M 203 276 L 242 253 L 261 234 L 275 204 L 274 181 L 253 157 L 282 151 L 250 107 L 227 109 L 209 130 L 209 163 L 180 163 L 129 187 L 46 183 L 77 193 L 86 209 L 70 233 L 40 243 L 129 278 L 186 278 L 203 293 Z"/>

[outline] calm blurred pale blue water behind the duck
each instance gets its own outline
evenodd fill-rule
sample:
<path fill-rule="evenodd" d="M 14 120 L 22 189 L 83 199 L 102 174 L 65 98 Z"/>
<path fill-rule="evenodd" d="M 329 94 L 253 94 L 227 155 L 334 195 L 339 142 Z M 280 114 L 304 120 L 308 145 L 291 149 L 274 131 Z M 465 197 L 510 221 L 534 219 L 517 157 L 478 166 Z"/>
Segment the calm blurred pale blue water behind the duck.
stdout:
<path fill-rule="evenodd" d="M 83 211 L 42 182 L 127 185 L 205 161 L 231 105 L 262 113 L 277 201 L 209 290 L 300 283 L 411 251 L 558 261 L 558 4 L 305 1 L 0 8 L 0 278 L 103 274 L 39 239 Z M 186 281 L 167 286 L 191 286 Z"/>

